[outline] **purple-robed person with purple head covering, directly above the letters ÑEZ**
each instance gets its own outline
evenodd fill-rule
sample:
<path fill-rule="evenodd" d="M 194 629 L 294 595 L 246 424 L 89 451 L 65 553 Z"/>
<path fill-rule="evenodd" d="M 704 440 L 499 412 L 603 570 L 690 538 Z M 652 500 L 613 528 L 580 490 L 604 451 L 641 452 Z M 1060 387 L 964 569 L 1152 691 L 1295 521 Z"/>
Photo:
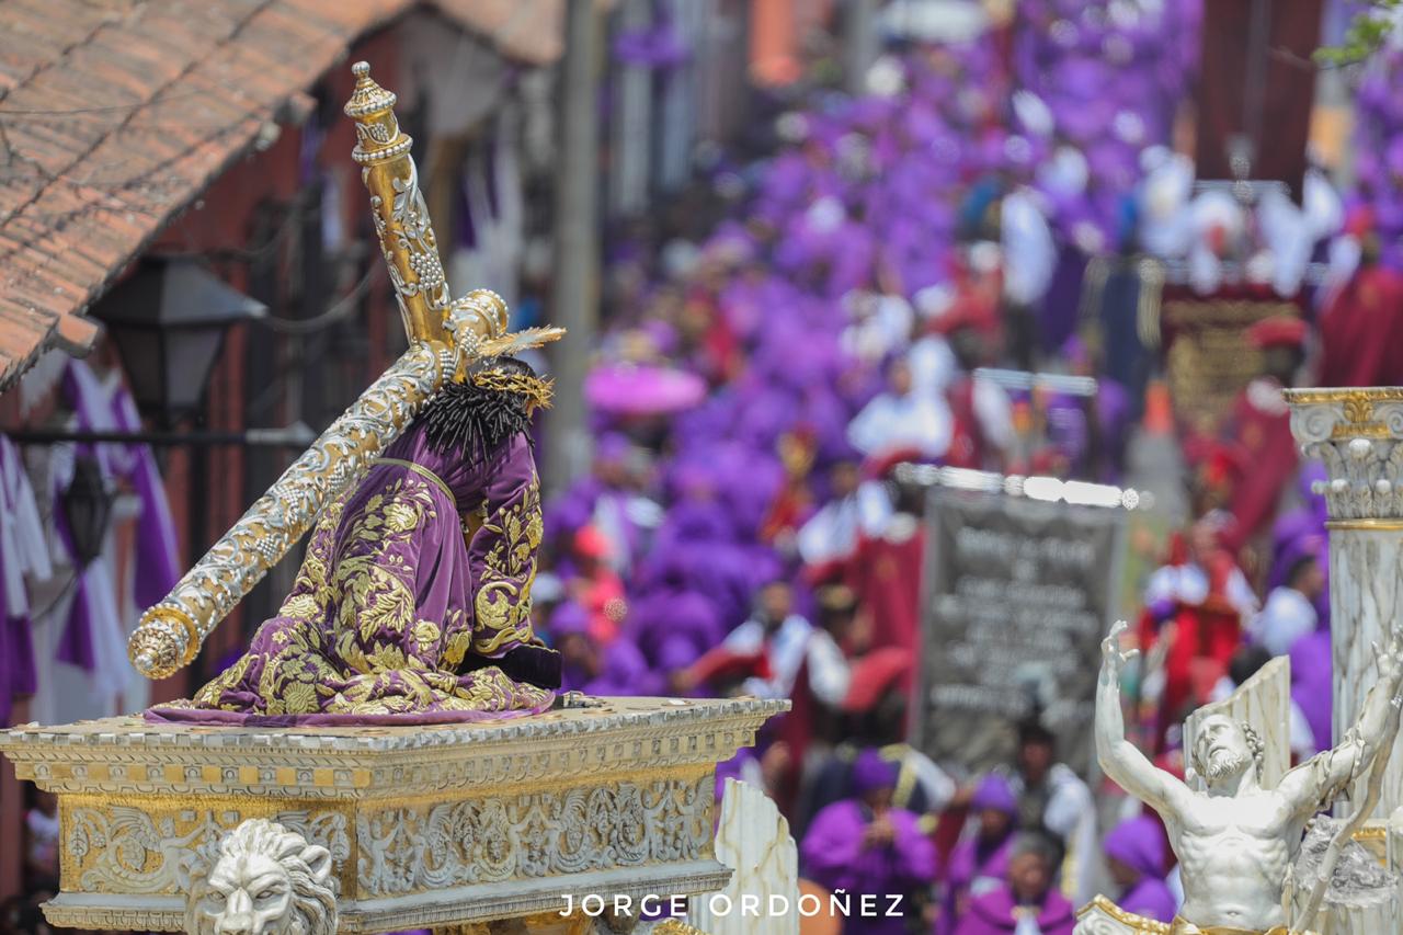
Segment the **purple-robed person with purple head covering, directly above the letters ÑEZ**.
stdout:
<path fill-rule="evenodd" d="M 864 750 L 853 764 L 854 797 L 817 816 L 800 848 L 803 873 L 829 891 L 852 897 L 845 935 L 905 935 L 920 917 L 936 875 L 936 845 L 922 834 L 919 817 L 891 806 L 897 765 L 877 750 Z M 877 897 L 878 914 L 861 915 L 861 897 Z M 890 898 L 902 896 L 894 915 Z"/>

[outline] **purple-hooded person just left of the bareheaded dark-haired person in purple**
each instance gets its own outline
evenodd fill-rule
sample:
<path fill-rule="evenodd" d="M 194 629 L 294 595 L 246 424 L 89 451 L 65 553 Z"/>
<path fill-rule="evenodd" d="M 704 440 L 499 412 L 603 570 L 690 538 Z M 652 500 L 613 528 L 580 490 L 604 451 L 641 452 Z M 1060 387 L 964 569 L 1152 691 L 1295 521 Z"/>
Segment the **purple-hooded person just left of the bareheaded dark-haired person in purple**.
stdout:
<path fill-rule="evenodd" d="M 1009 875 L 1019 821 L 1019 800 L 1007 779 L 998 774 L 984 778 L 969 800 L 969 811 L 979 818 L 974 837 L 950 852 L 944 872 L 944 900 L 936 922 L 937 935 L 954 932 L 968 913 L 969 901 L 1003 886 Z"/>

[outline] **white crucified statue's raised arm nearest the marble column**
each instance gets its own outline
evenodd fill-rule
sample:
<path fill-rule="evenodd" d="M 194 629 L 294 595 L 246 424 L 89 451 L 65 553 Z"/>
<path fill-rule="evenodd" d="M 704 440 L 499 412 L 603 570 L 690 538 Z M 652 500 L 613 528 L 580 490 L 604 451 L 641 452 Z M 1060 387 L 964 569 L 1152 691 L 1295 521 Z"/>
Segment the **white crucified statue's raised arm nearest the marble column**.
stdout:
<path fill-rule="evenodd" d="M 1397 717 L 1403 689 L 1403 642 L 1397 630 L 1386 650 L 1374 647 L 1374 657 L 1379 678 L 1364 698 L 1360 719 L 1333 750 L 1305 761 L 1277 786 L 1296 814 L 1315 813 L 1340 795 L 1345 785 L 1369 769 L 1379 748 L 1393 737 L 1390 722 Z"/>

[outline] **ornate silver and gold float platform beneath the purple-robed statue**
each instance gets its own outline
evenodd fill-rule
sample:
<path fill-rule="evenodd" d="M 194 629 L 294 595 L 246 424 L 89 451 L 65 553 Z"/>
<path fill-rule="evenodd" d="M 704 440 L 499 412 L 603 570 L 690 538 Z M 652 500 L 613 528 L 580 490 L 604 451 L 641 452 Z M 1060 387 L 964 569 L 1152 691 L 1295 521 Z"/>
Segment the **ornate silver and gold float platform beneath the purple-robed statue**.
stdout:
<path fill-rule="evenodd" d="M 721 889 L 716 765 L 787 702 L 602 702 L 405 727 L 109 717 L 17 727 L 0 751 L 59 797 L 59 927 L 181 931 L 191 862 L 250 818 L 330 852 L 342 932 Z"/>

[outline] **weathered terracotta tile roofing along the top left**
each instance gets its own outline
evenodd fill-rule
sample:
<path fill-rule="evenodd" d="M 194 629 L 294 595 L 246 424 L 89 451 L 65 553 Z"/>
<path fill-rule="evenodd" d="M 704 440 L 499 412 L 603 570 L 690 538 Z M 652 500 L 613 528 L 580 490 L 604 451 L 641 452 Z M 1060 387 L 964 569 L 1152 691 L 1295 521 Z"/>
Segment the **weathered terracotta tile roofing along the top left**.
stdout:
<path fill-rule="evenodd" d="M 434 0 L 530 63 L 564 0 Z M 0 3 L 0 392 L 362 34 L 418 0 Z"/>

